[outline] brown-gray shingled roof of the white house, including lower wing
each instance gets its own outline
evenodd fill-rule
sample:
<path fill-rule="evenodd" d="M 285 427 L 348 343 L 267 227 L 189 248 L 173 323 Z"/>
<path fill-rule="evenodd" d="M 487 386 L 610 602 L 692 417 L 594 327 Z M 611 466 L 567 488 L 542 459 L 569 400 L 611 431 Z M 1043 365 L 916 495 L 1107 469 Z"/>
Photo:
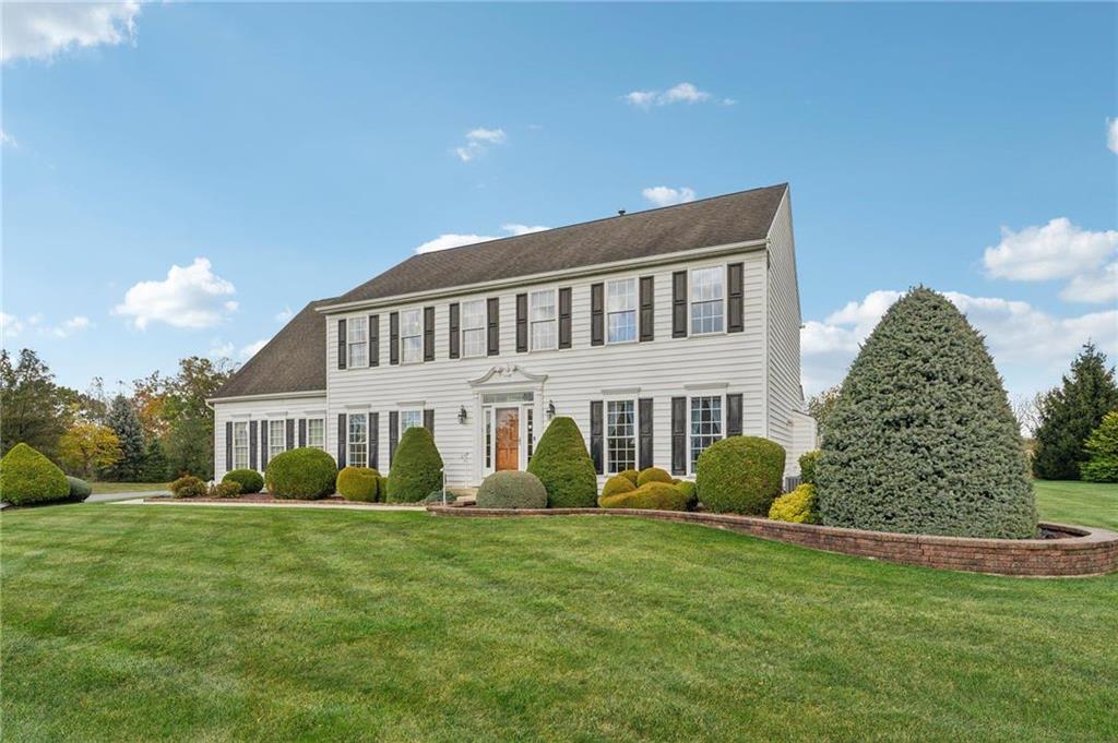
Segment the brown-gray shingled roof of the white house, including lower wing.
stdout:
<path fill-rule="evenodd" d="M 779 183 L 413 256 L 340 297 L 303 307 L 214 397 L 325 390 L 326 326 L 318 307 L 764 239 L 787 188 Z"/>

